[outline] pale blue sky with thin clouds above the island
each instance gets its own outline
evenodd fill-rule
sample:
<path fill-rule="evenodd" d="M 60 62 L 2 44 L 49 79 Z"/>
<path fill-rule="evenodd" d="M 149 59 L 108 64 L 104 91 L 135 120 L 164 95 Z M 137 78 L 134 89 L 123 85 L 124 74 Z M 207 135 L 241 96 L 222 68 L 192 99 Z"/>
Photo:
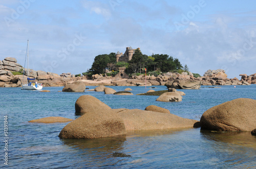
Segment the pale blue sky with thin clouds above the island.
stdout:
<path fill-rule="evenodd" d="M 201 76 L 256 73 L 256 1 L 0 1 L 0 60 L 79 74 L 99 54 L 140 47 L 168 54 Z"/>

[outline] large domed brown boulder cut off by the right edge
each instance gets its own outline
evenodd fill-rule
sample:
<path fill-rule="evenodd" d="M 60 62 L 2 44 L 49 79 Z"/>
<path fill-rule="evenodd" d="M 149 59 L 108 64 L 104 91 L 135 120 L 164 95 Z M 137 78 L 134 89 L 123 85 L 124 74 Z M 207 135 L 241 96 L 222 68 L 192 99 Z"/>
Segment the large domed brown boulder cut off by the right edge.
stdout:
<path fill-rule="evenodd" d="M 206 110 L 201 129 L 217 131 L 251 131 L 256 128 L 256 100 L 239 98 Z"/>

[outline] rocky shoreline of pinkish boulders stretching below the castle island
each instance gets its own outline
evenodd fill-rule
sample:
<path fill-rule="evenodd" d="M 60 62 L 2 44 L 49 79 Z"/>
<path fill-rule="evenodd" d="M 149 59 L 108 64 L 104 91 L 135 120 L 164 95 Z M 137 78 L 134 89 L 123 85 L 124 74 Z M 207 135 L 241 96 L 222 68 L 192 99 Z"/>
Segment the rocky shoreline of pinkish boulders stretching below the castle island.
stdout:
<path fill-rule="evenodd" d="M 26 77 L 23 75 L 14 75 L 13 72 L 24 72 L 29 77 L 35 78 L 38 83 L 42 83 L 44 87 L 61 87 L 67 86 L 76 81 L 82 81 L 86 86 L 172 86 L 176 89 L 182 88 L 181 83 L 184 81 L 196 81 L 197 86 L 222 86 L 222 85 L 250 85 L 256 84 L 256 73 L 247 75 L 240 74 L 241 79 L 237 77 L 227 78 L 225 70 L 207 70 L 202 77 L 194 77 L 193 73 L 163 73 L 157 77 L 154 75 L 139 75 L 131 76 L 130 78 L 122 78 L 117 74 L 115 77 L 106 76 L 106 74 L 95 74 L 92 79 L 87 76 L 75 77 L 71 73 L 62 73 L 60 75 L 52 72 L 35 71 L 25 69 L 17 63 L 15 58 L 5 58 L 0 61 L 0 87 L 22 87 L 22 83 L 26 83 Z M 167 84 L 166 84 L 167 83 Z M 179 87 L 177 87 L 179 86 Z M 196 89 L 191 87 L 190 89 Z M 197 88 L 198 89 L 198 88 Z"/>

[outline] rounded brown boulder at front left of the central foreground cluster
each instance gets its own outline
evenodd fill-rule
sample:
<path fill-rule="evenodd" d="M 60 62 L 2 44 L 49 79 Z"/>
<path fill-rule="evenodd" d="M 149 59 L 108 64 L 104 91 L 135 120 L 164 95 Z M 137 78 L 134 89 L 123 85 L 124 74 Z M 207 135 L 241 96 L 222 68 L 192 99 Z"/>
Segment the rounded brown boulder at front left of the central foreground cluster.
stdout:
<path fill-rule="evenodd" d="M 123 120 L 112 109 L 88 112 L 65 126 L 60 138 L 101 138 L 126 134 Z"/>

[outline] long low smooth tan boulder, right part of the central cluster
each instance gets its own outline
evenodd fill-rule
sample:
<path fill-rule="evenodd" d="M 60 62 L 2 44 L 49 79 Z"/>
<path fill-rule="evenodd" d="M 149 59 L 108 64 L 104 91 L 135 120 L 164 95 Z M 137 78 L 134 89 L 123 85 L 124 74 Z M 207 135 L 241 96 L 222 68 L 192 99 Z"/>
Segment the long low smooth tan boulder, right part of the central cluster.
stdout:
<path fill-rule="evenodd" d="M 140 109 L 130 109 L 118 112 L 126 130 L 157 130 L 194 127 L 198 121 L 184 119 L 173 114 Z"/>

